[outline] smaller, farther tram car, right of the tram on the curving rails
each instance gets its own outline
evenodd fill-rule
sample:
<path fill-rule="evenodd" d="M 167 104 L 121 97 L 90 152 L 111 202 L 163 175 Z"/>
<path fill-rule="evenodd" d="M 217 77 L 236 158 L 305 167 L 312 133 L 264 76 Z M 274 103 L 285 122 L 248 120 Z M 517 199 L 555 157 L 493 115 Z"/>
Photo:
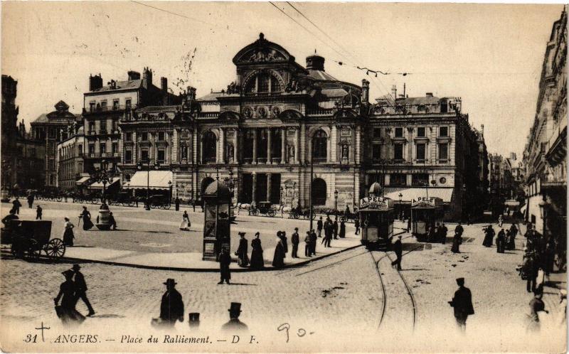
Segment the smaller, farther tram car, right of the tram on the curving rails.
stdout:
<path fill-rule="evenodd" d="M 445 218 L 442 199 L 419 197 L 411 202 L 411 232 L 418 241 L 426 240 L 429 228 Z"/>

